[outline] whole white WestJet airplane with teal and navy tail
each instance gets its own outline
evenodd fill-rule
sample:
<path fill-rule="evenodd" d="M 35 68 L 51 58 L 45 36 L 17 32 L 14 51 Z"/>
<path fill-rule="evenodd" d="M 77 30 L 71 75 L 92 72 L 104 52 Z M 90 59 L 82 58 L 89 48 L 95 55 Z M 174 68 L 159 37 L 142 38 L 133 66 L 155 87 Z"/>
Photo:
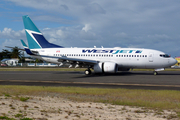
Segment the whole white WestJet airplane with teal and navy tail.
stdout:
<path fill-rule="evenodd" d="M 85 75 L 94 73 L 116 73 L 130 69 L 154 69 L 154 75 L 177 63 L 164 52 L 142 48 L 64 48 L 49 43 L 28 15 L 22 17 L 28 41 L 21 43 L 27 54 L 46 62 L 70 67 L 87 67 Z"/>

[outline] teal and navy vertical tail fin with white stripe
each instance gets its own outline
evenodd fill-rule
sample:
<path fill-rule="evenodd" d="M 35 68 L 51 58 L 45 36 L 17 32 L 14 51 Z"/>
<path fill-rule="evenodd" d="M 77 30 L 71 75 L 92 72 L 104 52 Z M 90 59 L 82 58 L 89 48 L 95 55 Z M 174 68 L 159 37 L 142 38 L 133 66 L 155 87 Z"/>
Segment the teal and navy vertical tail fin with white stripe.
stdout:
<path fill-rule="evenodd" d="M 26 37 L 29 45 L 29 49 L 42 49 L 42 48 L 63 48 L 52 43 L 49 43 L 36 25 L 32 22 L 29 16 L 23 16 L 24 27 L 26 31 Z"/>

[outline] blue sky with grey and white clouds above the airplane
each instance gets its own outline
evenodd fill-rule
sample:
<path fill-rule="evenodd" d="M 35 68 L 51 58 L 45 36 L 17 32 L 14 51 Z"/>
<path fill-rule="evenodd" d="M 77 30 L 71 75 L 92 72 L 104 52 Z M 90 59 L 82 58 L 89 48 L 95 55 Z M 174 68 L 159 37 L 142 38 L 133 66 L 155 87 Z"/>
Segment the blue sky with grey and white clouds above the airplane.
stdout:
<path fill-rule="evenodd" d="M 180 0 L 1 0 L 0 51 L 27 43 L 22 16 L 63 47 L 133 47 L 180 56 Z"/>

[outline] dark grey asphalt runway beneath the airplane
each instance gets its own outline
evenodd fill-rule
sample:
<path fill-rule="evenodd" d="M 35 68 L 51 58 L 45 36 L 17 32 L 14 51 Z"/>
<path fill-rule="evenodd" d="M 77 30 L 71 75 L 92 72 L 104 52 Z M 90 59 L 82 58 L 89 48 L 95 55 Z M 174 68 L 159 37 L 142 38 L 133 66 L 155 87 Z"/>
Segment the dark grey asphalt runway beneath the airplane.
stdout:
<path fill-rule="evenodd" d="M 83 72 L 0 71 L 0 85 L 180 90 L 180 71 L 162 71 L 156 76 L 152 71 L 90 76 L 84 75 Z"/>

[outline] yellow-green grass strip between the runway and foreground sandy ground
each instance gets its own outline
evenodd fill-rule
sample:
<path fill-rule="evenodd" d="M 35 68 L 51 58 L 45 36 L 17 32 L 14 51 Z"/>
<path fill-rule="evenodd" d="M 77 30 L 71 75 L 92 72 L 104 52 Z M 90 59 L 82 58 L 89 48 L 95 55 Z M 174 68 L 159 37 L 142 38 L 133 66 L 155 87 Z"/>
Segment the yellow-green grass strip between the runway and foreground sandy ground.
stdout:
<path fill-rule="evenodd" d="M 131 90 L 79 87 L 1 86 L 0 95 L 60 96 L 74 101 L 101 102 L 151 109 L 175 110 L 180 113 L 180 91 Z M 77 94 L 78 93 L 78 94 Z"/>

